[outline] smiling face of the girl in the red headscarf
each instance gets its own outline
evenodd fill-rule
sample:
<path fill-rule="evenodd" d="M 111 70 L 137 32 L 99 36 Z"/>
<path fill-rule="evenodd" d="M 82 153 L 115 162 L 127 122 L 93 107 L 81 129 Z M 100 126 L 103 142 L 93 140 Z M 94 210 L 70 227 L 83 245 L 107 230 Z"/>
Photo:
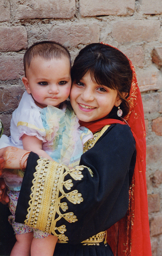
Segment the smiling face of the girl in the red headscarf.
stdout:
<path fill-rule="evenodd" d="M 87 72 L 79 83 L 72 83 L 70 102 L 79 120 L 90 122 L 107 116 L 121 99 L 116 90 L 98 85 Z"/>

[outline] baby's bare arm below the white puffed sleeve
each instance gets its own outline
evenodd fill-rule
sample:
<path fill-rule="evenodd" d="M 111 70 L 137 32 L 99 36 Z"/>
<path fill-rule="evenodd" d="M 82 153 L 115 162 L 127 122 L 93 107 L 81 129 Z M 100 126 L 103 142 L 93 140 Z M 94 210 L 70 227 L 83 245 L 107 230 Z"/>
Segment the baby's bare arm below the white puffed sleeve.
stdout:
<path fill-rule="evenodd" d="M 35 136 L 22 135 L 23 148 L 28 151 L 32 151 L 40 157 L 48 158 L 54 161 L 44 150 L 42 150 L 42 141 Z"/>

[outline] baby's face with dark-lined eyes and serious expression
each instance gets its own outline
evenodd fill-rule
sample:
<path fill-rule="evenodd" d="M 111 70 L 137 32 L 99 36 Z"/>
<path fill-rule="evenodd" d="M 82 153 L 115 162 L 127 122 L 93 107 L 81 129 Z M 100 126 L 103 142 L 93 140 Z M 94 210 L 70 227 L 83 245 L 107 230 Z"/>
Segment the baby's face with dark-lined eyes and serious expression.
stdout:
<path fill-rule="evenodd" d="M 65 56 L 48 61 L 35 57 L 26 69 L 26 78 L 22 80 L 37 106 L 59 107 L 70 94 L 70 61 Z"/>

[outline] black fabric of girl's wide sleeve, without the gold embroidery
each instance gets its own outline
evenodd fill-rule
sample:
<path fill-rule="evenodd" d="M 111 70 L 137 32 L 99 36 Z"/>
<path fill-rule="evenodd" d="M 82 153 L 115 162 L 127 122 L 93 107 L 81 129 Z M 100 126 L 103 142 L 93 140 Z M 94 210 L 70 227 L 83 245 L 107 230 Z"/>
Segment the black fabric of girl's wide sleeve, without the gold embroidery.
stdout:
<path fill-rule="evenodd" d="M 17 203 L 15 219 L 17 222 L 23 223 L 28 213 L 31 181 L 37 159 L 36 154 L 29 155 Z M 84 166 L 81 171 L 83 177 L 81 180 L 72 179 L 72 190 L 81 193 L 83 202 L 74 204 L 67 197 L 60 201 L 67 204 L 68 212 L 74 213 L 77 221 L 70 223 L 65 218 L 57 221 L 57 226 L 65 225 L 64 233 L 69 243 L 80 243 L 108 229 L 125 216 L 135 162 L 135 140 L 130 128 L 121 124 L 111 125 L 94 147 L 81 156 L 80 165 Z M 93 175 L 88 168 L 92 170 Z M 65 176 L 64 181 L 69 178 L 71 178 L 70 172 Z M 29 188 L 27 189 L 26 186 Z M 57 214 L 56 218 L 58 218 Z"/>

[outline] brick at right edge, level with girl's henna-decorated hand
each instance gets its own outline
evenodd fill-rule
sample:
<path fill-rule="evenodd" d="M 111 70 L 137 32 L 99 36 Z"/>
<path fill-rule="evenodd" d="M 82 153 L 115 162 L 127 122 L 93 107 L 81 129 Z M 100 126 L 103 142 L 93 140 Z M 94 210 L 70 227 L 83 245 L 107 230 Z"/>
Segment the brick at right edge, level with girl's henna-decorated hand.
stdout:
<path fill-rule="evenodd" d="M 152 166 L 156 163 L 159 166 L 162 164 L 161 158 L 162 145 L 147 145 L 146 147 L 146 164 L 152 164 Z"/>

